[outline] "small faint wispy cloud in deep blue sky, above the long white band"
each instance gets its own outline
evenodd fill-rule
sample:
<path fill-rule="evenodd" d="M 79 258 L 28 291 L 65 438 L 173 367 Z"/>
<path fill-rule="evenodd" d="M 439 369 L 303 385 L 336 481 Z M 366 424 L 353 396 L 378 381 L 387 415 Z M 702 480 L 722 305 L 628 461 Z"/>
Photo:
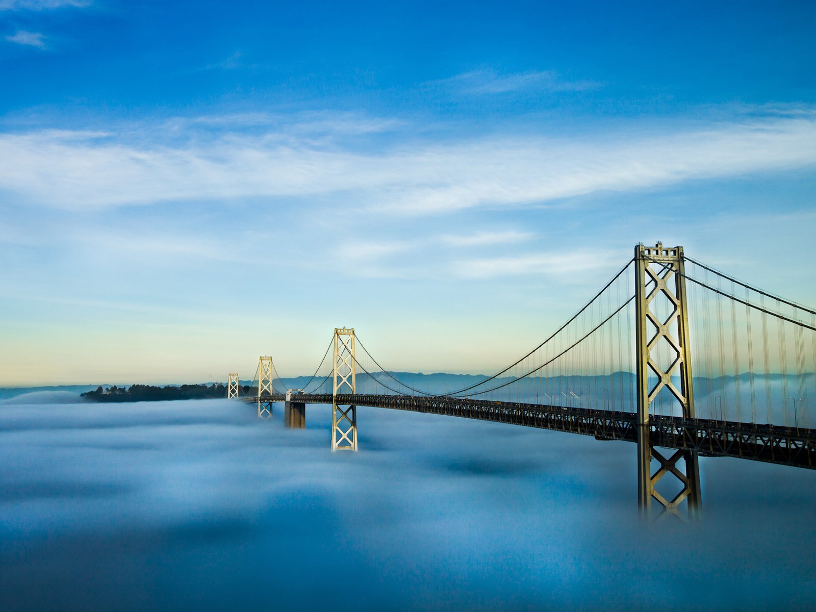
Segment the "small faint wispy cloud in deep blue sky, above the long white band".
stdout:
<path fill-rule="evenodd" d="M 494 69 L 471 70 L 432 82 L 464 94 L 503 94 L 511 91 L 587 91 L 601 86 L 591 80 L 570 81 L 555 70 L 498 73 Z"/>

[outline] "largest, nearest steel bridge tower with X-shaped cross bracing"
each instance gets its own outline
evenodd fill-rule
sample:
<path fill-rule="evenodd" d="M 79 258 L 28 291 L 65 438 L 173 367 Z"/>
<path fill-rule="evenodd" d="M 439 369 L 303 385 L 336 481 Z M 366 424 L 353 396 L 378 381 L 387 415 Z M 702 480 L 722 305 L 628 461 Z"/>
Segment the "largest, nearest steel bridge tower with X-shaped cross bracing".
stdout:
<path fill-rule="evenodd" d="M 665 389 L 680 406 L 681 416 L 694 419 L 683 247 L 665 247 L 661 242 L 655 246 L 637 245 L 635 268 L 638 505 L 649 515 L 652 499 L 657 499 L 666 512 L 681 516 L 678 507 L 685 499 L 688 514 L 693 517 L 701 502 L 697 453 L 676 450 L 664 456 L 668 454 L 650 443 L 649 419 L 650 407 Z M 650 377 L 656 380 L 651 388 Z M 659 461 L 654 473 L 652 459 Z M 666 499 L 655 488 L 669 475 L 677 481 L 674 486 L 680 486 L 673 497 L 669 495 L 672 499 Z"/>

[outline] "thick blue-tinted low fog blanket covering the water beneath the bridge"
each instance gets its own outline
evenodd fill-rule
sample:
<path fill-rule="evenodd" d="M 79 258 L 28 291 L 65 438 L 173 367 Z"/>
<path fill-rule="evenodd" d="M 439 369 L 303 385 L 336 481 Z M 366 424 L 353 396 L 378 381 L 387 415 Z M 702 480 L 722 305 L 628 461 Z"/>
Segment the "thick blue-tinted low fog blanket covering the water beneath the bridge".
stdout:
<path fill-rule="evenodd" d="M 2 610 L 790 610 L 816 472 L 701 458 L 637 520 L 627 442 L 358 408 L 360 452 L 237 401 L 0 403 Z M 45 401 L 45 403 L 43 403 Z"/>

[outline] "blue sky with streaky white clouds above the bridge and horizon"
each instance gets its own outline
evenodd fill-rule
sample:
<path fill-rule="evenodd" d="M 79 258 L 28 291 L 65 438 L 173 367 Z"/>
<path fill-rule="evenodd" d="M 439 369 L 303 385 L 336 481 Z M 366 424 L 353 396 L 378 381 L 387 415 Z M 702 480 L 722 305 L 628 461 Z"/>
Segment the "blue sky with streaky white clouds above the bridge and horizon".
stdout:
<path fill-rule="evenodd" d="M 0 0 L 0 384 L 481 372 L 636 242 L 816 303 L 810 2 Z"/>

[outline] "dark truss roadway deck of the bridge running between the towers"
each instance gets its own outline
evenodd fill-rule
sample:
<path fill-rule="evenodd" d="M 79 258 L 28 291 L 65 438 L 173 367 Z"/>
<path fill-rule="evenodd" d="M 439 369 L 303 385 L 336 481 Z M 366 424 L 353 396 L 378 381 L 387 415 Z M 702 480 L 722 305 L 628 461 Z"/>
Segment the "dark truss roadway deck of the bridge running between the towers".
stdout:
<path fill-rule="evenodd" d="M 372 406 L 410 410 L 432 415 L 524 425 L 557 432 L 580 433 L 598 440 L 637 441 L 636 415 L 632 412 L 542 406 L 511 401 L 463 399 L 459 397 L 419 397 L 412 395 L 339 395 L 343 406 Z M 246 397 L 257 403 L 283 402 L 283 394 Z M 330 394 L 293 394 L 291 401 L 304 404 L 331 404 Z M 650 443 L 663 448 L 696 450 L 699 455 L 754 459 L 796 468 L 816 468 L 816 429 L 774 427 L 773 425 L 683 419 L 650 415 Z"/>

